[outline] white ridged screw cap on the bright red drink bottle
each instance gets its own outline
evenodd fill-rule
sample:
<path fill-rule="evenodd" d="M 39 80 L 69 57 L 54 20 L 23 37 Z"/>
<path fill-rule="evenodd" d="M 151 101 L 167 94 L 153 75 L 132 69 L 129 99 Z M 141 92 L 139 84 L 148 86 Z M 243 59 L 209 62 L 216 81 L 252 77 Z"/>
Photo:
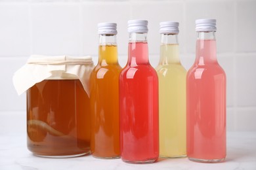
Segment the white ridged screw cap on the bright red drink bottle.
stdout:
<path fill-rule="evenodd" d="M 128 21 L 129 33 L 148 33 L 147 20 L 129 20 Z"/>

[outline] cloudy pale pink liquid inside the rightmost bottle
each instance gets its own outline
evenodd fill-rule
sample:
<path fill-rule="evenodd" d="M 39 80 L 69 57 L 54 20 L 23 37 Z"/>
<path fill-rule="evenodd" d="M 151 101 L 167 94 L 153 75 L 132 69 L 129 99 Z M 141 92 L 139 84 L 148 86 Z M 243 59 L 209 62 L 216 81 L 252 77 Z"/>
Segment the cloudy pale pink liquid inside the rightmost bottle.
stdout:
<path fill-rule="evenodd" d="M 215 40 L 198 40 L 196 61 L 186 77 L 187 155 L 196 160 L 226 157 L 226 75 Z"/>

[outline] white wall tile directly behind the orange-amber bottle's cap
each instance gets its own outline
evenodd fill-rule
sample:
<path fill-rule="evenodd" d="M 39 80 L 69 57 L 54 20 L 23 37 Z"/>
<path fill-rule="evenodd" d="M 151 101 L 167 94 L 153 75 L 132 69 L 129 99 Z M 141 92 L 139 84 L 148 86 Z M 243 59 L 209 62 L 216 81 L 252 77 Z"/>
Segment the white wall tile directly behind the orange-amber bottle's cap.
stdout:
<path fill-rule="evenodd" d="M 81 32 L 83 54 L 97 56 L 99 22 L 117 22 L 117 43 L 119 54 L 127 53 L 127 20 L 130 16 L 129 1 L 85 1 L 82 4 Z"/>

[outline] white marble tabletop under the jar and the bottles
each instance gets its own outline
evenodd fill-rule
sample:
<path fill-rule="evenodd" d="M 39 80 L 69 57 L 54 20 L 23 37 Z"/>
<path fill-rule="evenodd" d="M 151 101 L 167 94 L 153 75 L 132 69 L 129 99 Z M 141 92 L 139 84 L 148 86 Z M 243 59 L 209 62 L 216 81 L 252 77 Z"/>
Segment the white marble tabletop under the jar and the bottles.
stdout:
<path fill-rule="evenodd" d="M 40 158 L 26 146 L 26 114 L 0 114 L 0 170 L 10 169 L 196 169 L 256 170 L 256 132 L 228 132 L 227 156 L 223 163 L 196 163 L 187 158 L 159 159 L 152 164 L 129 164 L 121 159 L 101 160 L 93 156 Z"/>

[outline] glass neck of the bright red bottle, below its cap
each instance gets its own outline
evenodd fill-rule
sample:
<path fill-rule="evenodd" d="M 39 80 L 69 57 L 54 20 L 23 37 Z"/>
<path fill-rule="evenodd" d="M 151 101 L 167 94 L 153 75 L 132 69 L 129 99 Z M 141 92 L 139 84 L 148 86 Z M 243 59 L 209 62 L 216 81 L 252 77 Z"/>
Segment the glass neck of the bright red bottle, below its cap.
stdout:
<path fill-rule="evenodd" d="M 148 41 L 146 33 L 130 33 L 128 46 L 128 65 L 148 64 Z"/>

